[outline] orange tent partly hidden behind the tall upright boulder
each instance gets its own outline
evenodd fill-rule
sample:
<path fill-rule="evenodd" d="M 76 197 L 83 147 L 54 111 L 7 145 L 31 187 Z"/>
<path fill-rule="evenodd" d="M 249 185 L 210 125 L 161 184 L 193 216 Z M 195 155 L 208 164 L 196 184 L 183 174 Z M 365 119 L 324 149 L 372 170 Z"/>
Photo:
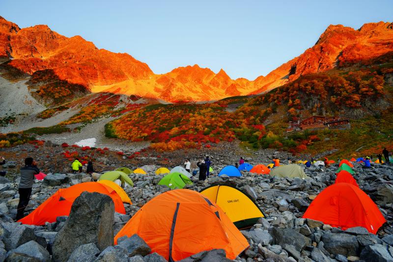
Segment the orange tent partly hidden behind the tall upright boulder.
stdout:
<path fill-rule="evenodd" d="M 60 188 L 44 203 L 40 204 L 34 211 L 28 214 L 28 216 L 18 220 L 18 222 L 40 226 L 44 225 L 45 222 L 55 222 L 58 216 L 68 216 L 75 199 L 84 191 L 97 192 L 110 196 L 114 203 L 115 211 L 122 214 L 126 213 L 121 198 L 111 187 L 97 182 L 85 182 L 68 188 Z"/>

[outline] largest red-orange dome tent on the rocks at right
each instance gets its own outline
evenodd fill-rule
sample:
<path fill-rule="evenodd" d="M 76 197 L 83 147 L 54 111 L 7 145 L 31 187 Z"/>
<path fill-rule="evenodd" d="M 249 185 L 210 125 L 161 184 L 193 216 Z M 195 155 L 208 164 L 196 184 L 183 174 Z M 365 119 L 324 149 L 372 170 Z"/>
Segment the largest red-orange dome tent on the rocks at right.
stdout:
<path fill-rule="evenodd" d="M 359 187 L 336 183 L 312 201 L 303 218 L 322 221 L 343 230 L 364 227 L 371 233 L 386 222 L 378 206 Z"/>

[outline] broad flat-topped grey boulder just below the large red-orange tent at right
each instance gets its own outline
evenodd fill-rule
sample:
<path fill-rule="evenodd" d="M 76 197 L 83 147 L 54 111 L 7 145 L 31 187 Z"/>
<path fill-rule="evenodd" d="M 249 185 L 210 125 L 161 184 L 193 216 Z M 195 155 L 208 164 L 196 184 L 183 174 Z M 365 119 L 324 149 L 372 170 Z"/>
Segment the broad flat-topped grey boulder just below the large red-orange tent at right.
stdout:
<path fill-rule="evenodd" d="M 357 256 L 359 252 L 359 244 L 355 235 L 324 233 L 322 241 L 325 249 L 331 254 L 341 254 L 348 257 Z"/>

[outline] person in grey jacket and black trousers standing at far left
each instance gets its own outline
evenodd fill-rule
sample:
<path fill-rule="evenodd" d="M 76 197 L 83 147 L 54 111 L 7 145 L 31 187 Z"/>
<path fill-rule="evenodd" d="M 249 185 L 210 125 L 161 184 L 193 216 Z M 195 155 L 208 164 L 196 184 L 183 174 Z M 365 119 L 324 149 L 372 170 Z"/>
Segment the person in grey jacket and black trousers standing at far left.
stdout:
<path fill-rule="evenodd" d="M 22 219 L 28 202 L 30 201 L 31 189 L 33 187 L 34 175 L 40 173 L 37 163 L 32 157 L 25 159 L 25 166 L 21 168 L 21 181 L 19 182 L 19 204 L 17 207 L 16 220 Z"/>

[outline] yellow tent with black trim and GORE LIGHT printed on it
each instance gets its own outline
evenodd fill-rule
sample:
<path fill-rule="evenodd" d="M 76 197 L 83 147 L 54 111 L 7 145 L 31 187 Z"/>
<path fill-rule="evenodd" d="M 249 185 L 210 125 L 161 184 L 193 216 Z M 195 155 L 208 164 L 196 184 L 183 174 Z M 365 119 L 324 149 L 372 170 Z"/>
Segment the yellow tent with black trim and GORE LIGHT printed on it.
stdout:
<path fill-rule="evenodd" d="M 258 218 L 265 217 L 258 205 L 236 187 L 214 185 L 202 189 L 200 193 L 212 203 L 218 204 L 239 229 L 252 227 Z"/>

